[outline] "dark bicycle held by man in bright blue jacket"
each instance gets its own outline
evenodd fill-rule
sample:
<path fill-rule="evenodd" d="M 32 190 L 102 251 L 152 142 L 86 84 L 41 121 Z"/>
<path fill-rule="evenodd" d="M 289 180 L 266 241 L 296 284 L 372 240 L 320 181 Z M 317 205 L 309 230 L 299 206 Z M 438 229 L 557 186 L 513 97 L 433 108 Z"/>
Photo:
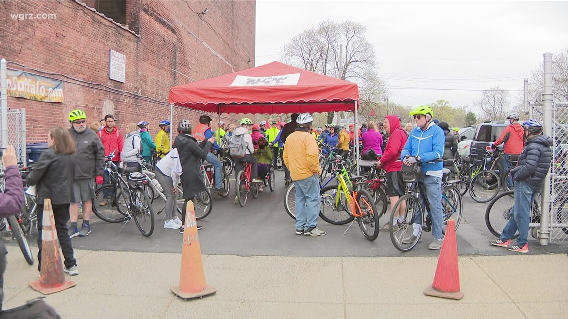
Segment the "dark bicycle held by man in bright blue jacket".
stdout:
<path fill-rule="evenodd" d="M 409 157 L 411 161 L 416 162 L 414 157 Z M 435 161 L 439 162 L 441 159 Z M 420 162 L 417 169 L 420 170 Z M 458 181 L 448 181 L 448 175 L 451 173 L 449 169 L 444 169 L 442 177 L 442 233 L 445 234 L 448 221 L 453 219 L 456 221 L 456 230 L 460 226 L 462 217 L 462 198 L 460 191 L 454 184 Z M 389 233 L 392 245 L 399 251 L 409 251 L 418 244 L 423 230 L 430 232 L 432 230 L 431 208 L 424 184 L 420 179 L 415 178 L 414 182 L 407 184 L 407 194 L 400 196 L 394 204 L 389 219 Z M 392 225 L 395 221 L 395 212 L 399 210 L 400 205 L 406 205 L 404 209 L 404 219 L 402 222 L 396 221 L 396 228 Z M 424 205 L 424 208 L 423 208 Z M 424 220 L 424 212 L 428 212 L 427 218 Z M 418 234 L 412 242 L 404 243 L 405 238 L 410 238 L 413 234 L 413 225 L 419 224 Z"/>

